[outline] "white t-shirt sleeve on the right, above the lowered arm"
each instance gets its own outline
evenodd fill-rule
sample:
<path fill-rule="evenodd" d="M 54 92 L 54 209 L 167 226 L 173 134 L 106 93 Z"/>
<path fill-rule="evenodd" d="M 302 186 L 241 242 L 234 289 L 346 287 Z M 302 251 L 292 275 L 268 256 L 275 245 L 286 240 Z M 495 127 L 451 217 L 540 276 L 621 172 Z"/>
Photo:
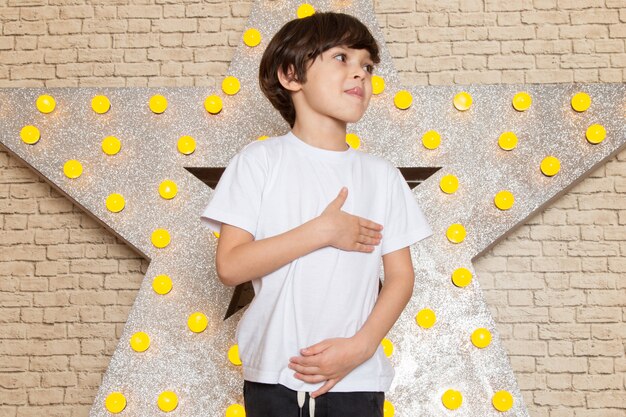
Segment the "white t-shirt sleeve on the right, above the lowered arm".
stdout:
<path fill-rule="evenodd" d="M 433 234 L 415 194 L 400 170 L 392 167 L 388 178 L 388 201 L 383 224 L 381 255 L 410 246 Z"/>

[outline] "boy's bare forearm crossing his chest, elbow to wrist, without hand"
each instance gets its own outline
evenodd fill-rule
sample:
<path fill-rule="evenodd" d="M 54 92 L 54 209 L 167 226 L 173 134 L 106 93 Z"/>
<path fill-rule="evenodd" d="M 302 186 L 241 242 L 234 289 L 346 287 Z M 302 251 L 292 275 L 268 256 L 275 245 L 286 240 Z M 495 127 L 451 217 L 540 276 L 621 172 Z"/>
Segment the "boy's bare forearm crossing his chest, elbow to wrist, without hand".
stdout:
<path fill-rule="evenodd" d="M 320 217 L 309 220 L 287 232 L 231 249 L 228 274 L 222 282 L 239 285 L 267 275 L 314 250 L 328 246 Z"/>

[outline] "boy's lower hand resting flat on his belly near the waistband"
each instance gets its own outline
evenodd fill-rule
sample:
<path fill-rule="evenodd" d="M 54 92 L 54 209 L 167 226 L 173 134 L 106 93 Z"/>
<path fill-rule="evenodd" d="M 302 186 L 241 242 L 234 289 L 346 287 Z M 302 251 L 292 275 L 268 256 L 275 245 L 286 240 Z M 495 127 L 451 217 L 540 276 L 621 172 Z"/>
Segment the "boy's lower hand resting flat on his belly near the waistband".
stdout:
<path fill-rule="evenodd" d="M 363 343 L 352 337 L 325 339 L 302 349 L 300 353 L 303 356 L 289 359 L 289 368 L 296 371 L 294 376 L 308 383 L 326 381 L 311 394 L 313 398 L 328 392 L 350 371 L 369 359 Z"/>

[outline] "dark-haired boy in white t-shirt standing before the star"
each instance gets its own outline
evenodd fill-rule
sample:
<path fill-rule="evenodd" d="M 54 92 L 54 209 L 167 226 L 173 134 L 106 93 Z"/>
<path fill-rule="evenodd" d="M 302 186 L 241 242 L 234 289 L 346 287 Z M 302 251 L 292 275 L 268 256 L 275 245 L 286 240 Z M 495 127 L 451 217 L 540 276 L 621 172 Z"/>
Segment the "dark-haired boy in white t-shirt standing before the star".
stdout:
<path fill-rule="evenodd" d="M 378 62 L 354 17 L 285 24 L 259 79 L 291 131 L 236 154 L 202 213 L 220 280 L 255 292 L 237 327 L 247 417 L 383 415 L 380 342 L 413 291 L 409 245 L 432 231 L 400 171 L 346 143 Z"/>

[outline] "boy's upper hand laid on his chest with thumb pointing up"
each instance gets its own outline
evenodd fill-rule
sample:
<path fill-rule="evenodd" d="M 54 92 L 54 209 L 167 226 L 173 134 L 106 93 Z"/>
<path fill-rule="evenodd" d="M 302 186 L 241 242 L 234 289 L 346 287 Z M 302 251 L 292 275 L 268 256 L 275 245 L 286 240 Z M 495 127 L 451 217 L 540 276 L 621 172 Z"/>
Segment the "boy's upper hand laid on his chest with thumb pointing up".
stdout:
<path fill-rule="evenodd" d="M 347 251 L 372 252 L 383 237 L 380 233 L 383 226 L 342 211 L 347 197 L 348 189 L 343 187 L 319 216 L 328 245 Z"/>

